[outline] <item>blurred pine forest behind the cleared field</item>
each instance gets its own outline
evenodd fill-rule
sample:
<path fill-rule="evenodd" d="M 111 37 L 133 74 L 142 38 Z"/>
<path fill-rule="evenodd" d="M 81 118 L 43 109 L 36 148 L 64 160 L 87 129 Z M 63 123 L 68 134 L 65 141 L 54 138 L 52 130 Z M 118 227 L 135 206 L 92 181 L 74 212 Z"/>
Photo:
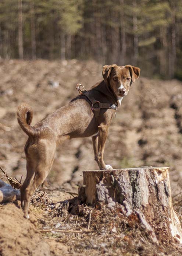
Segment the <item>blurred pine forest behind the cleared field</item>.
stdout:
<path fill-rule="evenodd" d="M 0 0 L 0 57 L 131 63 L 182 80 L 182 1 Z"/>

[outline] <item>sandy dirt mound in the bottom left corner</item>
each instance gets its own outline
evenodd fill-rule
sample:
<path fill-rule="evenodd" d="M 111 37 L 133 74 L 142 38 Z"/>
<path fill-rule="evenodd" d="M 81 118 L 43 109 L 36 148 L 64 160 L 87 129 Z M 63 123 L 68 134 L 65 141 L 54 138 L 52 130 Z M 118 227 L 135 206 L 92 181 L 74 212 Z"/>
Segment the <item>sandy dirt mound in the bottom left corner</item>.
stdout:
<path fill-rule="evenodd" d="M 2 256 L 50 256 L 66 255 L 67 247 L 51 239 L 44 239 L 37 228 L 37 218 L 31 214 L 31 221 L 23 217 L 22 210 L 13 203 L 0 206 L 0 255 Z"/>

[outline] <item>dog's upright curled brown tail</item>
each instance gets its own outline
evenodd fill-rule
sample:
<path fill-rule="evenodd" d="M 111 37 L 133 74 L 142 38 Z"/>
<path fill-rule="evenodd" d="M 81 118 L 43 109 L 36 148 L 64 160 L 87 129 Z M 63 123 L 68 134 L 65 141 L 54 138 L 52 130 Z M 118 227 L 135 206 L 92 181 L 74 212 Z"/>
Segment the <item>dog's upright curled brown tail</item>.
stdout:
<path fill-rule="evenodd" d="M 18 106 L 17 119 L 21 129 L 28 135 L 34 136 L 35 129 L 30 125 L 33 118 L 33 110 L 31 106 L 26 103 L 22 103 Z"/>

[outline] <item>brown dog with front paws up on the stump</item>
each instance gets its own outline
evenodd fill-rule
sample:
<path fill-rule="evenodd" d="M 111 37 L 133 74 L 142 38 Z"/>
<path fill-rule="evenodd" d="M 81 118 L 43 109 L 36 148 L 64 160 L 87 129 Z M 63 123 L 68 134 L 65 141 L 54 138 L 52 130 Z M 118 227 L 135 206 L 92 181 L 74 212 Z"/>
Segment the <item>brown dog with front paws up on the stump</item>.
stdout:
<path fill-rule="evenodd" d="M 21 187 L 21 206 L 28 218 L 28 207 L 36 189 L 47 177 L 54 160 L 56 144 L 65 139 L 92 137 L 95 160 L 100 169 L 112 169 L 103 160 L 104 146 L 115 109 L 128 94 L 132 82 L 139 78 L 140 69 L 131 65 L 103 66 L 103 81 L 90 88 L 88 95 L 106 108 L 94 112 L 89 97 L 79 95 L 69 104 L 31 126 L 33 112 L 27 104 L 18 107 L 18 123 L 29 136 L 25 145 L 26 179 Z M 104 106 L 104 105 L 102 105 Z M 98 108 L 97 108 L 98 110 Z"/>

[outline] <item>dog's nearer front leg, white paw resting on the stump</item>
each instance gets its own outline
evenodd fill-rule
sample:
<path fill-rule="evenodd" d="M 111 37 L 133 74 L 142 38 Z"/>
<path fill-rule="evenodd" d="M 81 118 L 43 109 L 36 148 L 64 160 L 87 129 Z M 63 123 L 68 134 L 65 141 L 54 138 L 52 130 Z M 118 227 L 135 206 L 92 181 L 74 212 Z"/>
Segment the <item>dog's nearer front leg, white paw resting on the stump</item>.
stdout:
<path fill-rule="evenodd" d="M 100 169 L 113 169 L 111 165 L 109 164 L 106 165 L 103 160 L 107 134 L 108 134 L 108 126 L 100 125 L 99 139 L 98 139 L 98 152 L 97 152 L 97 158 L 96 158 L 97 164 L 99 165 Z"/>

